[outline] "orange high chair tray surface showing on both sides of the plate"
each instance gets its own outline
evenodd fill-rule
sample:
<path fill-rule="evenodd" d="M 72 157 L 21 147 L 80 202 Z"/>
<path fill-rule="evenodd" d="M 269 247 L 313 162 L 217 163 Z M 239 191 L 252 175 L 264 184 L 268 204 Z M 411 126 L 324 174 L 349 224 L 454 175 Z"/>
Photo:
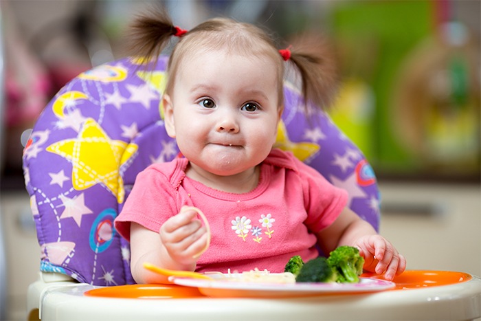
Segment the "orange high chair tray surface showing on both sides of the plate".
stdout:
<path fill-rule="evenodd" d="M 363 274 L 366 278 L 384 279 L 375 274 Z M 388 291 L 420 289 L 424 287 L 440 287 L 454 285 L 471 280 L 471 275 L 463 272 L 412 270 L 405 271 L 393 280 L 396 287 Z M 100 287 L 85 292 L 85 296 L 104 298 L 205 298 L 195 287 L 179 285 L 120 285 L 116 287 Z"/>

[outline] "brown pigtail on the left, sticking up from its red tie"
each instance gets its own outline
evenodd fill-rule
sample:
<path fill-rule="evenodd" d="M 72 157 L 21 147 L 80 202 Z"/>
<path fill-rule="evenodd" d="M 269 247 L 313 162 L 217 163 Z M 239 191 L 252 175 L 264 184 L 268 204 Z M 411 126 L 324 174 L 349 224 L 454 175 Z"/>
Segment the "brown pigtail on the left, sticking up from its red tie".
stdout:
<path fill-rule="evenodd" d="M 126 39 L 127 54 L 138 58 L 141 64 L 157 60 L 170 37 L 177 32 L 165 9 L 153 7 L 146 10 L 137 16 L 130 27 Z"/>

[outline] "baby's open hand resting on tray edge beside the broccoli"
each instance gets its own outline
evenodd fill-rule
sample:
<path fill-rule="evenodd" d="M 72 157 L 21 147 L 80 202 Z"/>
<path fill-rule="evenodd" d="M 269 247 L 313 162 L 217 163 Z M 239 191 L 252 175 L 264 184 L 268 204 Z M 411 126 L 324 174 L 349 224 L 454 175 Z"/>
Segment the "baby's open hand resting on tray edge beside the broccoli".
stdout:
<path fill-rule="evenodd" d="M 364 258 L 363 268 L 369 272 L 384 274 L 387 280 L 392 280 L 406 268 L 404 256 L 399 254 L 383 236 L 377 234 L 362 236 L 353 246 L 359 248 L 359 254 Z"/>

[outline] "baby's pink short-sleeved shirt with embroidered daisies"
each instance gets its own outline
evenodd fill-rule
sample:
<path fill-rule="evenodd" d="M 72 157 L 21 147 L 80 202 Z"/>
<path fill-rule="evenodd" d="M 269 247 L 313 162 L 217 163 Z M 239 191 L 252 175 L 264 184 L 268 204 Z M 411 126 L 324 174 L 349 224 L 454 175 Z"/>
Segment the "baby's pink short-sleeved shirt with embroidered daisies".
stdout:
<path fill-rule="evenodd" d="M 315 233 L 335 221 L 348 199 L 345 190 L 278 149 L 260 164 L 258 186 L 245 194 L 208 188 L 186 177 L 187 166 L 179 158 L 139 173 L 115 228 L 129 240 L 131 222 L 158 232 L 182 206 L 199 208 L 212 238 L 197 261 L 198 272 L 283 272 L 291 256 L 315 258 Z"/>

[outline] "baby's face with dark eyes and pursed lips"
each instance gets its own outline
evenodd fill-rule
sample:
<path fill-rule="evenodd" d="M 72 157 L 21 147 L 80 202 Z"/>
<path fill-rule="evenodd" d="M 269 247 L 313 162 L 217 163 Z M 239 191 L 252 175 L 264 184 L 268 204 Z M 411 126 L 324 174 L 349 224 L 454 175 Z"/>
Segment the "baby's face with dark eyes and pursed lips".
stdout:
<path fill-rule="evenodd" d="M 214 51 L 184 59 L 164 96 L 169 135 L 194 166 L 214 175 L 254 168 L 276 140 L 277 77 L 267 56 Z"/>

